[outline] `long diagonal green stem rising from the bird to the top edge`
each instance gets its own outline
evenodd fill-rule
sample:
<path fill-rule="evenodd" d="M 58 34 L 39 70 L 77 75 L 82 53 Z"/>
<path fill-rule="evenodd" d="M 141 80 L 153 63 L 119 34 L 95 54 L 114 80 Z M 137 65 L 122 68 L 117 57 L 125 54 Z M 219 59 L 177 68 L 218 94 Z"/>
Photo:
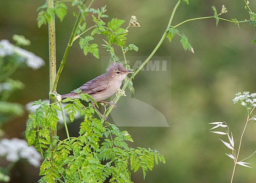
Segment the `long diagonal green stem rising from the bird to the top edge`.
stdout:
<path fill-rule="evenodd" d="M 160 41 L 158 42 L 158 44 L 156 45 L 156 48 L 152 51 L 152 53 L 148 56 L 148 58 L 143 62 L 143 64 L 137 69 L 137 71 L 132 75 L 132 77 L 130 77 L 127 81 L 125 81 L 124 86 L 122 87 L 122 90 L 125 90 L 125 88 L 127 87 L 129 81 L 131 81 L 135 75 L 137 75 L 137 73 L 139 73 L 139 71 L 141 71 L 141 69 L 147 64 L 147 62 L 153 57 L 153 55 L 156 53 L 156 51 L 158 50 L 158 48 L 160 48 L 161 44 L 163 43 L 163 40 L 165 39 L 167 33 L 168 33 L 168 29 L 171 26 L 171 23 L 173 21 L 173 17 L 174 14 L 176 12 L 176 9 L 178 8 L 178 6 L 180 5 L 180 3 L 182 2 L 182 0 L 178 0 L 177 4 L 175 5 L 174 9 L 173 9 L 173 13 L 171 15 L 171 18 L 169 20 L 168 26 L 165 30 L 165 32 L 163 33 L 163 36 L 161 37 Z M 117 97 L 117 99 L 115 99 L 115 103 L 117 103 L 119 101 L 121 96 Z M 113 110 L 113 106 L 111 106 L 108 110 L 108 112 L 106 112 L 106 117 L 109 116 L 110 112 Z"/>

